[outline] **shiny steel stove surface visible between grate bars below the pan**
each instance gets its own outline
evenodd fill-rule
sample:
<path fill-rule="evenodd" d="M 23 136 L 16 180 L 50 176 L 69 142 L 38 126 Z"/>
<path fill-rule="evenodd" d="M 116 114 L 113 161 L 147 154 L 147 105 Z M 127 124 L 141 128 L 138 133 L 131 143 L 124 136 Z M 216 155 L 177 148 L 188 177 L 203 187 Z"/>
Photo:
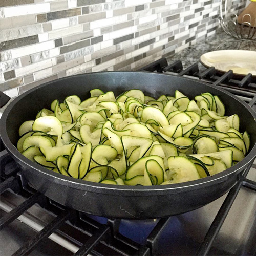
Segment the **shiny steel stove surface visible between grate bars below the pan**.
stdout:
<path fill-rule="evenodd" d="M 248 179 L 256 181 L 256 161 L 247 175 Z M 226 195 L 218 200 L 186 214 L 174 216 L 164 230 L 159 255 L 191 255 L 195 254 L 207 230 L 214 220 Z M 10 211 L 22 198 L 6 191 L 1 197 L 2 214 Z M 230 212 L 211 248 L 209 255 L 242 255 L 243 248 L 255 236 L 256 200 L 253 190 L 242 188 L 234 201 Z M 39 231 L 52 219 L 52 216 L 38 206 L 31 207 L 26 214 L 20 216 L 8 228 L 0 233 L 0 255 L 13 254 L 35 230 Z M 127 237 L 139 243 L 148 235 L 147 232 L 155 225 L 154 220 L 134 221 L 122 220 L 120 230 L 124 229 Z M 125 233 L 126 232 L 126 233 Z M 73 237 L 57 230 L 50 237 L 47 246 L 39 247 L 30 255 L 69 255 L 76 252 L 81 243 Z M 253 241 L 253 240 L 252 240 Z M 61 246 L 57 246 L 61 245 Z M 252 244 L 253 246 L 253 244 Z"/>

